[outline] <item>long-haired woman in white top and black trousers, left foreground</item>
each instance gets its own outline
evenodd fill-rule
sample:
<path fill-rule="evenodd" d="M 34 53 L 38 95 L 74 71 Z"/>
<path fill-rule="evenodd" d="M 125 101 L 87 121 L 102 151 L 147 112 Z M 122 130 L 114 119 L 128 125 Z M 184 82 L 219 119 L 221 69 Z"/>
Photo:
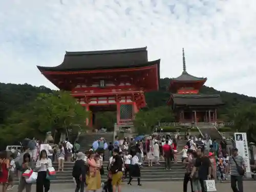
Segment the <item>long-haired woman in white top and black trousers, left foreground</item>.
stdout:
<path fill-rule="evenodd" d="M 39 158 L 36 161 L 36 169 L 38 171 L 36 180 L 36 192 L 45 192 L 50 190 L 50 180 L 47 179 L 47 169 L 52 167 L 52 160 L 47 157 L 46 150 L 40 152 Z"/>

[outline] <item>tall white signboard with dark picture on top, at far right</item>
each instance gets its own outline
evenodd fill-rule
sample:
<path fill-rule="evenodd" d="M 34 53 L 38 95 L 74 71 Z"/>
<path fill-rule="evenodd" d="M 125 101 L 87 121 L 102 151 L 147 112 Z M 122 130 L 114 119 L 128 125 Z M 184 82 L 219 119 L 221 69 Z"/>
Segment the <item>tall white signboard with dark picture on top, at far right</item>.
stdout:
<path fill-rule="evenodd" d="M 238 154 L 244 158 L 244 163 L 246 166 L 246 177 L 251 177 L 249 149 L 246 133 L 234 133 L 234 139 L 236 141 L 236 147 L 238 148 Z"/>

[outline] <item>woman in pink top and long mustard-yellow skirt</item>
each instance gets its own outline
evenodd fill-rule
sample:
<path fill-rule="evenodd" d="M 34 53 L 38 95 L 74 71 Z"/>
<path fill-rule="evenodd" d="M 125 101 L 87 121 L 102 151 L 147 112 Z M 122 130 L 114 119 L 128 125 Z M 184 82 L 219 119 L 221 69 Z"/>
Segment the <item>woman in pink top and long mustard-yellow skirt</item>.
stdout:
<path fill-rule="evenodd" d="M 90 151 L 87 164 L 89 167 L 89 172 L 86 175 L 86 190 L 93 190 L 96 191 L 98 188 L 97 186 L 97 169 L 99 169 L 99 165 L 96 164 L 96 161 L 94 160 L 94 153 L 93 151 Z"/>

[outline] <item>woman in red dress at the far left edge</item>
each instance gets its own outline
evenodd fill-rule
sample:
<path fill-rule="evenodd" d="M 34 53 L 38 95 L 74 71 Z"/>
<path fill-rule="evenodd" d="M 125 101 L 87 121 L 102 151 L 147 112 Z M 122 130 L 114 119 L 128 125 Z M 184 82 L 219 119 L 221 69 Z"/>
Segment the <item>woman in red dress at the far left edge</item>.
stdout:
<path fill-rule="evenodd" d="M 2 191 L 6 192 L 8 184 L 10 160 L 7 158 L 7 152 L 0 154 L 0 183 L 3 184 Z"/>

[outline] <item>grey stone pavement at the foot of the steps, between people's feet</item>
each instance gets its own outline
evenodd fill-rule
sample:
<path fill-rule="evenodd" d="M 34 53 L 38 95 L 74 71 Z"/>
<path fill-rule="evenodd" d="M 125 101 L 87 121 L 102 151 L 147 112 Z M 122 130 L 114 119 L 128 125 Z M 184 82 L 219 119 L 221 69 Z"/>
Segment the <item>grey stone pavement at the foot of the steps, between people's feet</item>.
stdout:
<path fill-rule="evenodd" d="M 133 182 L 132 186 L 128 186 L 126 183 L 122 184 L 122 192 L 179 192 L 183 190 L 182 182 L 144 182 L 143 186 L 137 186 L 137 182 Z M 73 192 L 75 188 L 74 184 L 53 184 L 49 192 Z M 244 181 L 245 192 L 255 192 L 256 181 Z M 217 192 L 232 192 L 230 183 L 217 183 Z M 12 190 L 17 191 L 15 186 Z M 24 190 L 25 191 L 25 190 Z M 32 187 L 32 191 L 35 192 L 35 185 Z M 84 190 L 86 192 L 86 190 Z M 101 192 L 100 190 L 97 192 Z M 190 192 L 190 184 L 188 183 L 188 191 Z"/>

